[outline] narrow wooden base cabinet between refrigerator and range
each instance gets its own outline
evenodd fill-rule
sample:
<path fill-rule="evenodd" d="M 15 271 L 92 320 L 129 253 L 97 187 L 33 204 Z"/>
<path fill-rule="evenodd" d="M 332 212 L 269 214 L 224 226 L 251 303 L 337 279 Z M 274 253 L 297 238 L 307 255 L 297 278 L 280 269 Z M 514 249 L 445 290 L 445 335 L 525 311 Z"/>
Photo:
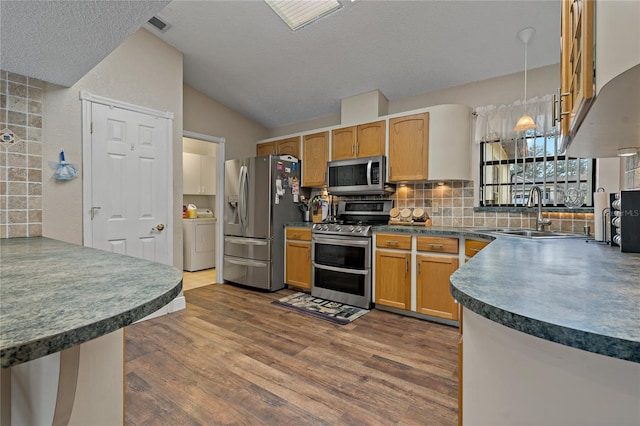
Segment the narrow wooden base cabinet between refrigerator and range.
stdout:
<path fill-rule="evenodd" d="M 311 288 L 311 229 L 286 230 L 285 283 Z"/>

